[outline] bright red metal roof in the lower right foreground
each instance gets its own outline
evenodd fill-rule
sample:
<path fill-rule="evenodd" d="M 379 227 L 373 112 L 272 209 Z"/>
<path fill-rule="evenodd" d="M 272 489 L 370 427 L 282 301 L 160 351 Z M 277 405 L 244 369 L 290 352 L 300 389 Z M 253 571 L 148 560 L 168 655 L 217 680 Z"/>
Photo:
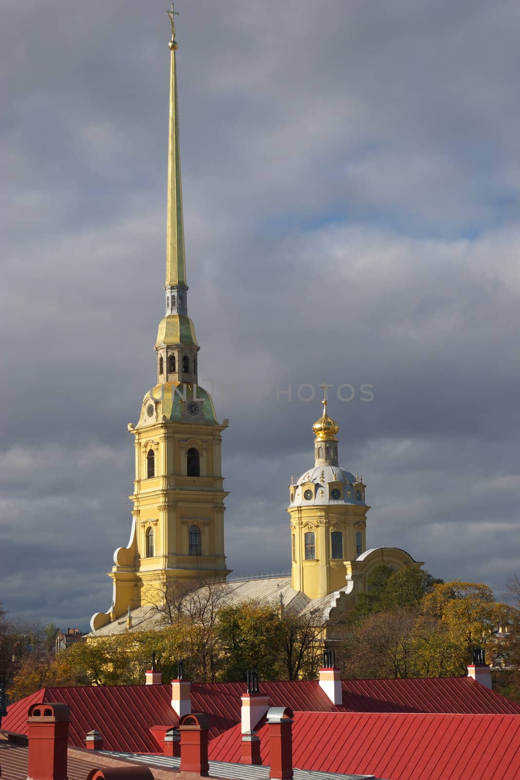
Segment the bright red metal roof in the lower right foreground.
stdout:
<path fill-rule="evenodd" d="M 269 726 L 258 729 L 269 765 Z M 241 728 L 209 743 L 210 761 L 237 762 Z M 494 714 L 296 712 L 295 768 L 387 780 L 518 780 L 520 718 Z"/>

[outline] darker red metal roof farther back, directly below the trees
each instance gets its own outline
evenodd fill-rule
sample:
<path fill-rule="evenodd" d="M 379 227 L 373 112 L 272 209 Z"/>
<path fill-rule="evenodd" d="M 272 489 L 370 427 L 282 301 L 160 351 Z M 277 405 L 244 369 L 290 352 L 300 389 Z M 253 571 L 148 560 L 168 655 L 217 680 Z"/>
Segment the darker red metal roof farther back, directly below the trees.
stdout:
<path fill-rule="evenodd" d="M 210 738 L 241 720 L 244 683 L 192 683 L 193 711 L 204 712 Z M 261 683 L 273 707 L 315 712 L 480 712 L 520 714 L 520 706 L 467 677 L 404 680 L 345 680 L 343 706 L 335 707 L 315 680 Z M 157 753 L 162 748 L 153 726 L 177 725 L 171 707 L 171 686 L 99 686 L 44 688 L 8 708 L 2 728 L 26 734 L 30 704 L 56 701 L 71 712 L 69 742 L 83 746 L 87 732 L 104 736 L 105 750 Z"/>

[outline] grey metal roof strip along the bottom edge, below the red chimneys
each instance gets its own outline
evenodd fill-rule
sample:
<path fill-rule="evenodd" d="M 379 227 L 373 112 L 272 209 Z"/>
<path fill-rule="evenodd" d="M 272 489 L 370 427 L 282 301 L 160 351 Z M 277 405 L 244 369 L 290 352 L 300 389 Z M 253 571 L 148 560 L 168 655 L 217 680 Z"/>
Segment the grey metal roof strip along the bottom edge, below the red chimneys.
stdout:
<path fill-rule="evenodd" d="M 115 758 L 128 758 L 132 761 L 141 761 L 149 767 L 163 769 L 178 769 L 180 758 L 169 756 L 157 756 L 143 753 L 114 753 L 104 750 L 104 755 Z M 226 764 L 223 761 L 209 761 L 209 775 L 216 778 L 230 778 L 230 780 L 269 780 L 269 767 L 255 766 L 254 764 Z M 294 769 L 294 780 L 378 780 L 374 775 L 337 775 L 335 772 L 315 772 L 307 769 Z"/>

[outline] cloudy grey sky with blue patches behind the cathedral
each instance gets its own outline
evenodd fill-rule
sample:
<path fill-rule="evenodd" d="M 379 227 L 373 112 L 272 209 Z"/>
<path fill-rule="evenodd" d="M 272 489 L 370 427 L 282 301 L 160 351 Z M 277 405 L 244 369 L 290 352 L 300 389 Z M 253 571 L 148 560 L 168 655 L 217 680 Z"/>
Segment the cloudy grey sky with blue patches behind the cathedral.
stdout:
<path fill-rule="evenodd" d="M 127 423 L 155 381 L 166 7 L 0 9 L 0 601 L 62 627 L 110 605 Z M 177 10 L 190 314 L 230 418 L 230 568 L 288 569 L 286 488 L 313 463 L 325 379 L 369 546 L 501 594 L 520 574 L 518 2 Z"/>

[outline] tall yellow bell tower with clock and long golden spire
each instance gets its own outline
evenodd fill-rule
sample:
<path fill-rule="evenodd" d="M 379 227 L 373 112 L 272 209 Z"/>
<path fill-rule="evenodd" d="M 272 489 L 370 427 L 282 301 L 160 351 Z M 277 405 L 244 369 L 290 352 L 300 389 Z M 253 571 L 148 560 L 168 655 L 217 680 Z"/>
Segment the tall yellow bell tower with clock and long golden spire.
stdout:
<path fill-rule="evenodd" d="M 216 577 L 229 570 L 224 554 L 222 431 L 213 399 L 199 386 L 199 344 L 188 317 L 181 160 L 177 106 L 177 41 L 171 23 L 165 314 L 159 323 L 156 385 L 146 393 L 134 437 L 132 531 L 114 552 L 113 598 L 92 629 L 146 603 L 158 603 L 171 580 Z"/>

